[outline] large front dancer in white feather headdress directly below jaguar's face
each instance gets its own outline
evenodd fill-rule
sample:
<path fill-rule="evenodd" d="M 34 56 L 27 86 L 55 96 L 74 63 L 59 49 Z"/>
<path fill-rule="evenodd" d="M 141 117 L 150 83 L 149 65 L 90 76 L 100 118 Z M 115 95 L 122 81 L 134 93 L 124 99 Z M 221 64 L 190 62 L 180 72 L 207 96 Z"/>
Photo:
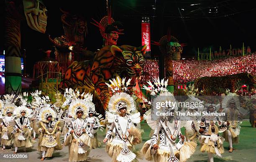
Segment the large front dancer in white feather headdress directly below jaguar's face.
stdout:
<path fill-rule="evenodd" d="M 106 152 L 112 157 L 112 162 L 131 162 L 136 159 L 136 154 L 132 152 L 134 144 L 141 143 L 141 131 L 136 128 L 136 124 L 141 122 L 140 113 L 131 115 L 135 111 L 133 97 L 126 94 L 127 86 L 130 84 L 129 79 L 125 84 L 125 78 L 122 81 L 110 80 L 111 85 L 106 83 L 112 91 L 112 95 L 106 111 L 106 119 L 112 123 L 104 143 L 107 143 Z M 115 137 L 112 137 L 115 128 Z"/>

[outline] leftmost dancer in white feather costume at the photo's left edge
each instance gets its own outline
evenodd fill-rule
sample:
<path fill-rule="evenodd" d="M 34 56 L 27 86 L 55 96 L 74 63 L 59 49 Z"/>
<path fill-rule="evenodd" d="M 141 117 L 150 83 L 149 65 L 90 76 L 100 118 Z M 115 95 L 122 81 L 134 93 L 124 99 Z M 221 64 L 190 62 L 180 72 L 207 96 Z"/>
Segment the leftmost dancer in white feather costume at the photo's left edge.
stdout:
<path fill-rule="evenodd" d="M 0 107 L 2 107 L 1 105 L 3 105 L 3 101 L 0 100 Z M 14 130 L 14 127 L 11 126 L 9 124 L 10 121 L 13 121 L 15 116 L 13 115 L 13 110 L 16 108 L 17 106 L 15 106 L 15 104 L 13 103 L 6 103 L 3 105 L 3 109 L 2 111 L 2 116 L 0 116 L 0 118 L 2 118 L 2 123 L 0 125 L 0 128 L 2 129 L 2 137 L 1 137 L 1 144 L 3 144 L 3 149 L 5 149 L 5 147 L 9 147 L 11 145 L 13 145 L 13 136 L 12 136 L 12 132 Z"/>

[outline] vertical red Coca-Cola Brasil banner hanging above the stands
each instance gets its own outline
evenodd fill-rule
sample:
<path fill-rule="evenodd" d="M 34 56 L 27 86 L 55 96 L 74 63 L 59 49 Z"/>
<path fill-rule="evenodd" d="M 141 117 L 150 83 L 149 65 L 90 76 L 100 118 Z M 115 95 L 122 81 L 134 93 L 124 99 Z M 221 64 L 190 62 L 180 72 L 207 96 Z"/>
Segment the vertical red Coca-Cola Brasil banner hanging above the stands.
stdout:
<path fill-rule="evenodd" d="M 150 23 L 141 23 L 142 46 L 147 45 L 146 51 L 150 51 Z"/>

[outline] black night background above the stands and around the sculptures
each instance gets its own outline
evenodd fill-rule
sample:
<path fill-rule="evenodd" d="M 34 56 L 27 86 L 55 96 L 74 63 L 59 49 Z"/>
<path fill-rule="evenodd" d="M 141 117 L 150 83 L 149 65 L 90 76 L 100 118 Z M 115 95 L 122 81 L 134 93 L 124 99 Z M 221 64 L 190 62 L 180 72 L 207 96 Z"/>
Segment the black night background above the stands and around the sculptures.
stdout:
<path fill-rule="evenodd" d="M 119 36 L 118 45 L 141 46 L 141 17 L 146 16 L 151 18 L 151 40 L 159 41 L 170 27 L 171 34 L 177 37 L 180 43 L 188 44 L 183 48 L 183 56 L 195 56 L 198 47 L 200 52 L 209 51 L 210 46 L 212 51 L 217 51 L 219 46 L 228 49 L 230 44 L 232 48 L 241 48 L 243 42 L 245 46 L 251 47 L 252 52 L 256 51 L 256 32 L 253 22 L 256 17 L 256 5 L 253 2 L 252 0 L 109 0 L 114 20 L 123 23 L 125 35 Z M 45 34 L 30 29 L 26 21 L 21 23 L 21 44 L 22 49 L 26 49 L 26 71 L 30 74 L 33 71 L 33 64 L 46 56 L 43 51 L 54 49 L 48 36 L 55 38 L 64 34 L 60 7 L 87 19 L 88 34 L 84 46 L 88 50 L 95 51 L 102 46 L 100 31 L 90 22 L 92 22 L 91 18 L 100 21 L 107 15 L 106 0 L 44 0 L 44 3 L 48 10 Z M 191 6 L 197 3 L 200 5 Z M 1 6 L 2 4 L 3 2 Z M 209 9 L 214 10 L 216 6 L 218 12 L 209 13 Z M 2 49 L 3 43 L 1 43 Z M 159 48 L 151 45 L 151 55 L 159 53 Z"/>

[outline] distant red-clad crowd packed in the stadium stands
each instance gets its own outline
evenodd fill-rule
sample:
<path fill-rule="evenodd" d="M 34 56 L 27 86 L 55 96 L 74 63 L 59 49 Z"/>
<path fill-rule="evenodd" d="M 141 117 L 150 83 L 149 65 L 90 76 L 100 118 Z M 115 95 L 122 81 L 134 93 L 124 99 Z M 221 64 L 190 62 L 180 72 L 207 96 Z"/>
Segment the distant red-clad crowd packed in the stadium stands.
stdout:
<path fill-rule="evenodd" d="M 202 76 L 226 76 L 237 73 L 256 75 L 256 54 L 222 58 L 218 60 L 180 60 L 173 61 L 174 82 L 186 84 Z M 159 76 L 158 61 L 146 60 L 143 67 L 142 83 Z"/>

